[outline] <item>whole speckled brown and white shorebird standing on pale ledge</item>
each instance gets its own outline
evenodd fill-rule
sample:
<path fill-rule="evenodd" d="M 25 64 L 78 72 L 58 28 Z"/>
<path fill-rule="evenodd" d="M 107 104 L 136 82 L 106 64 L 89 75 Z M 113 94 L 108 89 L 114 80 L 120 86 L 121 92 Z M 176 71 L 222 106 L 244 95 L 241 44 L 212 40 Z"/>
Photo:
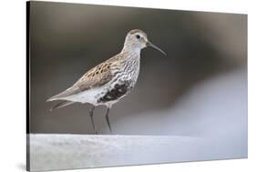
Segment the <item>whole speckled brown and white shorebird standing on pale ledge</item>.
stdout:
<path fill-rule="evenodd" d="M 140 66 L 140 50 L 148 46 L 166 55 L 158 46 L 148 41 L 148 37 L 143 31 L 138 29 L 129 31 L 123 49 L 118 55 L 93 67 L 78 79 L 73 86 L 47 100 L 62 100 L 51 110 L 73 103 L 91 104 L 89 115 L 94 132 L 97 134 L 93 111 L 95 106 L 107 106 L 105 117 L 108 128 L 112 132 L 108 119 L 109 109 L 121 98 L 127 96 L 135 86 Z"/>

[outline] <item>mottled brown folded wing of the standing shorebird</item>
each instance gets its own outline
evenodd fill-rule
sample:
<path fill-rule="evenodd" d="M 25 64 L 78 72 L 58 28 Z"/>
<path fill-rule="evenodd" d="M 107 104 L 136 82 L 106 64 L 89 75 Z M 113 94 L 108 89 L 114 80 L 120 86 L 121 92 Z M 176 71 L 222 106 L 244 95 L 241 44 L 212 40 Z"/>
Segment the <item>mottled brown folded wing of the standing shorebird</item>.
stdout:
<path fill-rule="evenodd" d="M 48 101 L 60 99 L 61 97 L 65 96 L 75 95 L 87 89 L 105 85 L 112 79 L 112 65 L 113 63 L 111 63 L 111 61 L 106 61 L 105 63 L 95 66 L 87 71 L 87 73 L 82 76 L 73 86 L 69 87 L 64 92 L 51 97 L 48 99 Z"/>

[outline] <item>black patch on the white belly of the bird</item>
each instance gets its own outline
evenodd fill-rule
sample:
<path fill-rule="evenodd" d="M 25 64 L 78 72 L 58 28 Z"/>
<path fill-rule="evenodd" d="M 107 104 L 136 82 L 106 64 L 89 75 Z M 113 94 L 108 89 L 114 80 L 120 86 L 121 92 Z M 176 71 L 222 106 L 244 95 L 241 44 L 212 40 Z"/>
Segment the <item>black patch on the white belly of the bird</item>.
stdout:
<path fill-rule="evenodd" d="M 119 97 L 126 95 L 129 89 L 131 89 L 131 87 L 128 85 L 128 83 L 116 84 L 113 89 L 106 93 L 105 96 L 99 98 L 97 103 L 117 100 Z"/>

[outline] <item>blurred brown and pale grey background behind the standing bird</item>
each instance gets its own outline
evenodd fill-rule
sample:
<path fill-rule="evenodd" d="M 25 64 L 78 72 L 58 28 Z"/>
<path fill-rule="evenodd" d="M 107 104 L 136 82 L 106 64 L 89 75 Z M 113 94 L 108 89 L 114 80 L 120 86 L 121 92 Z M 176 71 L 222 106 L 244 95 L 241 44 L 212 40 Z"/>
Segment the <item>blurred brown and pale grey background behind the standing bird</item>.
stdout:
<path fill-rule="evenodd" d="M 244 152 L 247 15 L 239 14 L 32 2 L 30 132 L 93 134 L 89 105 L 50 112 L 57 102 L 46 99 L 118 54 L 135 28 L 168 56 L 142 50 L 137 85 L 110 111 L 114 134 L 217 136 Z M 105 113 L 95 110 L 101 134 Z"/>

